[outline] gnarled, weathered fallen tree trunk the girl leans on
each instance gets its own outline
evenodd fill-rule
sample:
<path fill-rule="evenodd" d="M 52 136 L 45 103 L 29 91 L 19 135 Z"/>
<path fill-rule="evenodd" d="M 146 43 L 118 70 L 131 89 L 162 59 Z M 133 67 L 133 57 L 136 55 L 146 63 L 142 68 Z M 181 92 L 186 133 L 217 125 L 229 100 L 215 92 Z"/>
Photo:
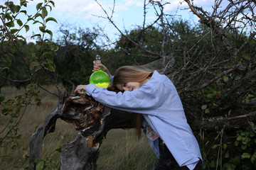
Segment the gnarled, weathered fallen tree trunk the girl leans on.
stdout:
<path fill-rule="evenodd" d="M 60 169 L 97 169 L 98 150 L 107 132 L 114 128 L 134 128 L 134 115 L 103 106 L 81 91 L 78 96 L 65 96 L 54 111 L 48 114 L 43 127 L 31 137 L 30 169 L 36 169 L 41 159 L 43 138 L 54 132 L 56 120 L 60 118 L 73 123 L 79 130 L 76 139 L 63 145 Z"/>

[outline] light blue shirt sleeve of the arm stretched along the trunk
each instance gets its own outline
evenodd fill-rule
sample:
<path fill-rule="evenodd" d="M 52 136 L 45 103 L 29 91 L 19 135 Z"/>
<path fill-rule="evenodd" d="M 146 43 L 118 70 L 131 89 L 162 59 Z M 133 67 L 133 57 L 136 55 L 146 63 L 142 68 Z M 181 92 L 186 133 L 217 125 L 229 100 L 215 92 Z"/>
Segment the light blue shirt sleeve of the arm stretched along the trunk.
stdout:
<path fill-rule="evenodd" d="M 95 98 L 96 101 L 122 111 L 134 113 L 156 114 L 159 98 L 156 90 L 150 84 L 144 84 L 139 89 L 124 91 L 116 94 L 114 91 L 107 91 L 105 88 L 89 84 L 85 89 L 87 95 Z"/>

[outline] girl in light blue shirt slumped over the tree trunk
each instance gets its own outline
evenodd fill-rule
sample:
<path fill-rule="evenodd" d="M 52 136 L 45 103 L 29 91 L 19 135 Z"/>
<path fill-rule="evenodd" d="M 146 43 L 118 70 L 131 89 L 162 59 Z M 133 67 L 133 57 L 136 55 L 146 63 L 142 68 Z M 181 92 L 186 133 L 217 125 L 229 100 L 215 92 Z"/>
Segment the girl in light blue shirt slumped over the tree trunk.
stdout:
<path fill-rule="evenodd" d="M 85 89 L 87 95 L 105 106 L 143 115 L 142 121 L 137 119 L 137 129 L 144 128 L 149 144 L 159 158 L 155 170 L 202 169 L 198 142 L 170 79 L 156 71 L 132 66 L 120 67 L 112 77 L 107 67 L 95 62 L 92 72 L 100 67 L 109 74 L 112 91 L 89 84 L 77 86 L 75 93 Z"/>

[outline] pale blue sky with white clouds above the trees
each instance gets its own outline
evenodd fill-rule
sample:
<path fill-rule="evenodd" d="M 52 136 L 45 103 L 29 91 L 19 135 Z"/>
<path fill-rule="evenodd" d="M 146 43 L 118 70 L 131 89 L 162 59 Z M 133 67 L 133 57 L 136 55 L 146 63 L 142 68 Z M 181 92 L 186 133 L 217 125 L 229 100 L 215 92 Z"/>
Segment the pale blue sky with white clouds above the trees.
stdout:
<path fill-rule="evenodd" d="M 6 0 L 0 0 L 0 5 L 4 4 Z M 36 12 L 36 4 L 43 2 L 44 0 L 27 0 L 28 6 L 26 10 L 28 13 Z M 60 36 L 59 28 L 62 25 L 72 27 L 81 27 L 81 28 L 92 28 L 92 27 L 100 27 L 105 30 L 105 33 L 114 40 L 118 37 L 119 32 L 116 28 L 112 26 L 112 24 L 107 21 L 105 12 L 102 10 L 101 6 L 105 8 L 106 12 L 111 16 L 113 4 L 114 13 L 112 20 L 119 27 L 120 30 L 132 30 L 135 26 L 142 26 L 144 21 L 143 13 L 144 13 L 144 1 L 143 0 L 53 0 L 55 3 L 55 7 L 53 7 L 52 11 L 48 12 L 47 17 L 55 18 L 58 23 L 53 21 L 49 21 L 47 23 L 47 28 L 52 30 L 53 32 L 53 40 L 58 39 Z M 157 1 L 157 0 L 156 0 Z M 193 15 L 189 10 L 182 10 L 183 8 L 188 8 L 188 4 L 186 4 L 183 0 L 166 0 L 170 4 L 164 7 L 164 11 L 166 13 L 180 14 L 180 18 L 184 20 L 189 20 L 193 22 L 198 22 L 198 18 Z M 225 0 L 228 1 L 228 0 Z M 14 0 L 14 4 L 18 4 L 18 0 Z M 194 0 L 194 4 L 197 6 L 203 6 L 204 9 L 211 10 L 211 6 L 214 6 L 214 0 Z M 146 23 L 152 23 L 156 18 L 154 13 L 154 8 L 152 6 L 147 6 L 147 14 L 146 14 Z M 178 10 L 177 10 L 178 9 Z M 20 14 L 21 18 L 26 20 L 26 17 L 23 13 Z M 178 19 L 178 18 L 177 18 Z M 32 22 L 31 22 L 32 23 Z M 30 30 L 26 33 L 25 30 L 21 32 L 21 35 L 25 38 L 29 38 L 33 33 L 40 33 L 38 29 L 38 25 L 31 25 Z M 29 41 L 29 40 L 28 40 Z"/>

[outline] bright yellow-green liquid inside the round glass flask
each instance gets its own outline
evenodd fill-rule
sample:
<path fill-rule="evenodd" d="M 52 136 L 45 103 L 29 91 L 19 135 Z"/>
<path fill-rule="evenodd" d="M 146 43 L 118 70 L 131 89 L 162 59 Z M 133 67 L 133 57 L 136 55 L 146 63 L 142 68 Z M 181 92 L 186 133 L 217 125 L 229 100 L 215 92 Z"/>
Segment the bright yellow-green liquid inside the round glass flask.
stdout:
<path fill-rule="evenodd" d="M 107 88 L 110 85 L 110 77 L 102 70 L 96 71 L 90 76 L 90 84 L 95 84 L 97 87 Z"/>

